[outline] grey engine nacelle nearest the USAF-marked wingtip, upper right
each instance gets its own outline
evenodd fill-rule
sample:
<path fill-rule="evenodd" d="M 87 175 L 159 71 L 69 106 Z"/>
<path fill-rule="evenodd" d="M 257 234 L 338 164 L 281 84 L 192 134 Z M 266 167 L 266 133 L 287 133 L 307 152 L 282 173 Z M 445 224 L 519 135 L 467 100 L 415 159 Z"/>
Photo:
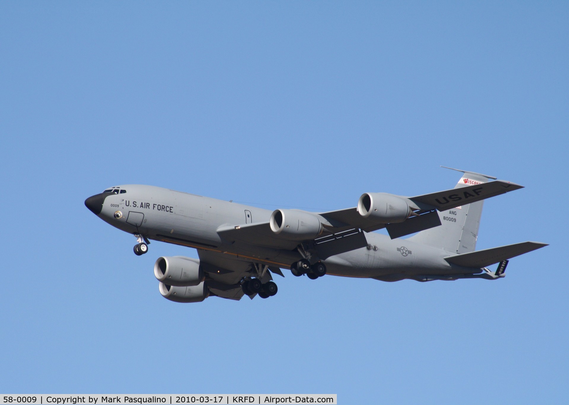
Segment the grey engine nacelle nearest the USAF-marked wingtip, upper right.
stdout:
<path fill-rule="evenodd" d="M 360 197 L 357 209 L 362 217 L 373 218 L 383 224 L 403 222 L 411 213 L 405 199 L 387 193 L 365 193 Z"/>

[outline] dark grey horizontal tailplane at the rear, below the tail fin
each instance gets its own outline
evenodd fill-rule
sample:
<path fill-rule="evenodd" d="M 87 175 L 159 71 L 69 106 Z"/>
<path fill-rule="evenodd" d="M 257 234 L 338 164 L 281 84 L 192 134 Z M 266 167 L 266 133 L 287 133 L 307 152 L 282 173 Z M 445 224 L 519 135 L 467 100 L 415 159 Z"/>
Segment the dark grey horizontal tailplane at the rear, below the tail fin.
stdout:
<path fill-rule="evenodd" d="M 541 242 L 521 242 L 513 245 L 492 247 L 492 249 L 477 250 L 444 258 L 447 262 L 464 267 L 483 268 L 499 263 L 521 254 L 547 246 Z"/>

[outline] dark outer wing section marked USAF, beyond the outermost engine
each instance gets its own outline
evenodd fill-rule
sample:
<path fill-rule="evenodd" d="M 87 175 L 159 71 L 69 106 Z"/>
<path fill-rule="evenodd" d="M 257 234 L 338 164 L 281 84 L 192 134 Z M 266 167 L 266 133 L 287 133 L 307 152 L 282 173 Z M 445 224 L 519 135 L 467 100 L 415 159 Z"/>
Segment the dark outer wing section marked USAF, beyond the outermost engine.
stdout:
<path fill-rule="evenodd" d="M 419 208 L 422 209 L 436 208 L 439 211 L 444 211 L 455 208 L 459 205 L 489 199 L 490 197 L 498 196 L 520 188 L 523 188 L 523 185 L 510 183 L 509 181 L 504 180 L 495 180 L 489 181 L 488 183 L 468 185 L 458 189 L 453 188 L 446 191 L 424 194 L 422 196 L 409 197 L 409 200 L 416 203 Z"/>

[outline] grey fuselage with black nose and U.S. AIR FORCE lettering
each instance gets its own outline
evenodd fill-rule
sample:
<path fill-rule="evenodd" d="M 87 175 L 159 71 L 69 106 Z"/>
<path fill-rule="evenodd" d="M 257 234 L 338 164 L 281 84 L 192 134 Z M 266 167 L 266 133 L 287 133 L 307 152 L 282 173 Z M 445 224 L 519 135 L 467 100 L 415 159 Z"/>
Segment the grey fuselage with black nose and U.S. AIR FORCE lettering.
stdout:
<path fill-rule="evenodd" d="M 110 192 L 109 192 L 110 190 Z M 296 249 L 225 241 L 224 226 L 267 222 L 271 210 L 150 185 L 121 185 L 89 197 L 85 204 L 105 222 L 130 234 L 175 245 L 210 250 L 242 261 L 289 268 Z M 407 239 L 364 233 L 367 246 L 322 259 L 328 274 L 396 281 L 426 275 L 475 274 L 482 270 L 452 265 L 449 252 Z"/>

